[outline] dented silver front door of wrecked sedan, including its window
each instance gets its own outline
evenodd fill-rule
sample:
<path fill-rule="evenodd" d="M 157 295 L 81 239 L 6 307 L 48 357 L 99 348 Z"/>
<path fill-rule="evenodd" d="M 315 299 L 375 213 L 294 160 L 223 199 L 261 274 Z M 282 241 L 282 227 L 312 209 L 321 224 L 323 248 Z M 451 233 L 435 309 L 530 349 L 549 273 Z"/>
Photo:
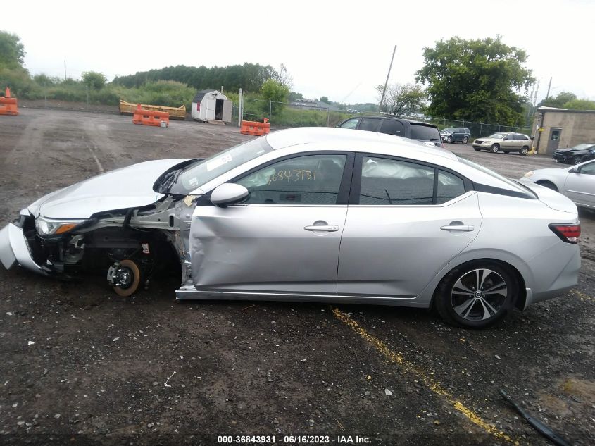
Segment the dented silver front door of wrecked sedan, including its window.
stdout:
<path fill-rule="evenodd" d="M 196 206 L 190 229 L 192 280 L 208 292 L 337 292 L 353 154 L 289 156 L 232 180 L 242 204 Z"/>

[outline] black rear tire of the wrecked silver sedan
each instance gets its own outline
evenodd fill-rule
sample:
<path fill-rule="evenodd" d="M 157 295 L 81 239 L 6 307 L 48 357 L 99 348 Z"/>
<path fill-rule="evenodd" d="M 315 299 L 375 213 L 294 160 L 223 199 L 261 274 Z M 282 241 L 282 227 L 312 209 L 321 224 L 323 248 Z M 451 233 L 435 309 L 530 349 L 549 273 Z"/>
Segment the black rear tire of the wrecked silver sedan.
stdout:
<path fill-rule="evenodd" d="M 478 281 L 476 271 L 480 271 L 479 285 L 494 292 L 484 294 L 482 290 L 472 290 L 471 284 Z M 468 295 L 467 290 L 472 293 Z M 434 304 L 444 321 L 451 325 L 487 328 L 501 321 L 515 306 L 518 290 L 518 280 L 505 266 L 489 259 L 470 261 L 454 268 L 441 280 Z"/>

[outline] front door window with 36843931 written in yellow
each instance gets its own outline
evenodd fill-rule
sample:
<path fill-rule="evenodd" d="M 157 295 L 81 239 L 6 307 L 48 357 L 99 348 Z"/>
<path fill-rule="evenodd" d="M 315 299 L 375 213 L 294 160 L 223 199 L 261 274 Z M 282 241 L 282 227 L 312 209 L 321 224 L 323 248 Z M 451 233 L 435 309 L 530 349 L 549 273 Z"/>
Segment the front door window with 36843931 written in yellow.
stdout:
<path fill-rule="evenodd" d="M 337 204 L 346 155 L 285 159 L 237 180 L 247 204 Z"/>

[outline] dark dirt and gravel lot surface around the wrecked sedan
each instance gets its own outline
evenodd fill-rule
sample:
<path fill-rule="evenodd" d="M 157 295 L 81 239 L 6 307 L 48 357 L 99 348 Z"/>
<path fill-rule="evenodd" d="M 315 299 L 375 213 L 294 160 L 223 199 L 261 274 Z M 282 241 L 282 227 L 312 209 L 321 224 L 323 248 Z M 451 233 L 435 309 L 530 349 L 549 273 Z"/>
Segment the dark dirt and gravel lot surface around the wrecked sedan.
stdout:
<path fill-rule="evenodd" d="M 0 116 L 0 223 L 101 171 L 249 138 L 223 125 L 131 121 L 25 108 Z M 449 149 L 513 178 L 555 166 Z M 573 445 L 593 445 L 595 216 L 581 220 L 575 289 L 483 331 L 415 309 L 176 302 L 177 277 L 123 299 L 101 275 L 63 283 L 0 268 L 0 443 L 257 435 L 246 444 L 548 445 L 499 396 L 504 388 Z"/>

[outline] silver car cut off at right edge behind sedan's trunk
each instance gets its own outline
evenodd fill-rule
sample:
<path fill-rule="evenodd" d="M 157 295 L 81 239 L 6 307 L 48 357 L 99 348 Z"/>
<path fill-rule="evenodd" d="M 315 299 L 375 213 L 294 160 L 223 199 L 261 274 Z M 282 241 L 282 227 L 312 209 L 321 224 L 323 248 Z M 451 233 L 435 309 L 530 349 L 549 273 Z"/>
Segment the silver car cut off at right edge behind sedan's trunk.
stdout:
<path fill-rule="evenodd" d="M 577 206 L 595 209 L 595 160 L 568 168 L 530 171 L 520 180 L 560 192 Z"/>

